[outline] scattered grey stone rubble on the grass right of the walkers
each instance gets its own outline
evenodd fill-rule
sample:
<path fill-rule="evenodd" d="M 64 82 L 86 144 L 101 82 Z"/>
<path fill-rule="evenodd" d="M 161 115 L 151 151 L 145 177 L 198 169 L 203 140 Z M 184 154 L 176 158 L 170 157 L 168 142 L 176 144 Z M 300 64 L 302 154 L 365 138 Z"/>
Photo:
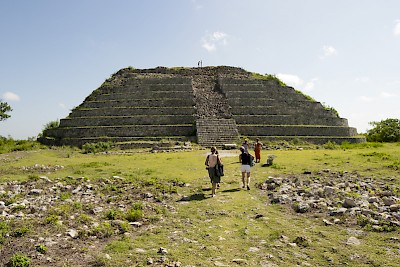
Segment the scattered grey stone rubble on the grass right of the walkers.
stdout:
<path fill-rule="evenodd" d="M 358 224 L 373 231 L 400 227 L 400 189 L 357 173 L 322 170 L 301 176 L 268 177 L 259 184 L 273 204 L 297 213 L 322 213 L 325 224 Z"/>

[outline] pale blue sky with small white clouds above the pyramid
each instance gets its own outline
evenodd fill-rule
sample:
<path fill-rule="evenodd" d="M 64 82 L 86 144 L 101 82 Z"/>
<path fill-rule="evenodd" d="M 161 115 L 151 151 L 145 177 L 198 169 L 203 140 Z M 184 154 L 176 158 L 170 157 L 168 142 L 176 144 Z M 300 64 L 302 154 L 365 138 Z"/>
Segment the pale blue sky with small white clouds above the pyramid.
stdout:
<path fill-rule="evenodd" d="M 119 69 L 274 74 L 351 127 L 400 118 L 398 0 L 0 1 L 0 135 L 36 137 Z"/>

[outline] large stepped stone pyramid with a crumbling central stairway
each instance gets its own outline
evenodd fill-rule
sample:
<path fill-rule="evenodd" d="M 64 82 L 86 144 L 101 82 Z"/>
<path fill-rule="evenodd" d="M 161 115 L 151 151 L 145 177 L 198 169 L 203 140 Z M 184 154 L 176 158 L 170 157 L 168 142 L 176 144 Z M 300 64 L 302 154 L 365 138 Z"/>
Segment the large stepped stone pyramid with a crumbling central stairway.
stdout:
<path fill-rule="evenodd" d="M 229 66 L 121 69 L 39 141 L 122 147 L 192 141 L 221 147 L 240 137 L 319 144 L 365 141 L 334 109 L 275 76 Z"/>

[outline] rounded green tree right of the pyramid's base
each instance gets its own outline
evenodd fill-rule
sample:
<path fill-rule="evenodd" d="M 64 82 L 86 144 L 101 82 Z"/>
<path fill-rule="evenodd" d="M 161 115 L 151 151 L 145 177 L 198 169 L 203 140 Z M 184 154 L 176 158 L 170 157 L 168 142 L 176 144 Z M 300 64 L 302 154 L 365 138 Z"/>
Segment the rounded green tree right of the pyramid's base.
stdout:
<path fill-rule="evenodd" d="M 367 131 L 368 142 L 399 142 L 400 141 L 400 120 L 386 119 L 380 122 L 370 122 L 374 126 Z"/>

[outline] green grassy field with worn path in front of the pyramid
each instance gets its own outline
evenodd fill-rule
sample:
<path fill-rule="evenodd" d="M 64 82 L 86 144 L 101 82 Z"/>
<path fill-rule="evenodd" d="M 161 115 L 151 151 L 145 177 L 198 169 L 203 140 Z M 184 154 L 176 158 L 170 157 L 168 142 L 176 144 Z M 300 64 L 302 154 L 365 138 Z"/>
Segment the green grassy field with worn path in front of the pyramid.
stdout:
<path fill-rule="evenodd" d="M 268 177 L 330 170 L 357 173 L 394 186 L 396 197 L 400 198 L 399 144 L 367 143 L 330 148 L 262 151 L 261 163 L 268 154 L 276 158 L 270 167 L 257 164 L 252 168 L 250 191 L 241 189 L 239 152 L 221 150 L 225 176 L 214 198 L 210 196 L 204 166 L 207 150 L 83 154 L 78 149 L 54 148 L 0 154 L 3 191 L 7 191 L 7 182 L 40 183 L 40 177 L 46 176 L 54 182 L 72 184 L 73 188 L 81 183 L 77 181 L 98 185 L 93 192 L 100 200 L 89 208 L 114 204 L 112 211 L 110 207 L 105 210 L 107 216 L 93 217 L 84 202 L 79 204 L 73 193 L 61 190 L 55 193 L 58 194 L 57 216 L 68 221 L 68 213 L 74 214 L 73 224 L 51 225 L 48 222 L 54 217 L 45 213 L 47 224 L 45 218 L 30 218 L 23 223 L 29 231 L 22 237 L 6 234 L 21 228 L 22 220 L 0 216 L 3 224 L 3 230 L 0 225 L 0 255 L 3 252 L 10 258 L 22 252 L 32 258 L 33 266 L 400 266 L 398 228 L 376 232 L 358 225 L 327 226 L 321 214 L 299 214 L 290 206 L 270 204 L 267 192 L 258 187 Z M 123 183 L 104 185 L 103 181 L 112 177 L 120 177 Z M 12 197 L 18 200 L 18 195 L 9 192 L 0 194 L 0 201 L 12 202 Z M 153 197 L 139 197 L 142 194 Z M 71 201 L 63 202 L 68 199 Z M 14 202 L 18 203 L 17 200 Z M 66 203 L 72 203 L 73 208 L 67 208 Z M 122 221 L 122 226 L 128 222 L 126 207 L 137 204 L 143 206 L 143 217 L 139 218 L 142 226 L 128 225 L 122 232 L 115 231 L 112 228 L 115 221 Z M 23 212 L 29 214 L 27 210 Z M 96 227 L 106 223 L 104 226 L 111 227 L 112 231 L 96 236 L 85 220 L 97 222 Z M 84 230 L 83 224 L 89 230 Z M 37 257 L 33 245 L 40 237 L 63 234 L 71 225 L 79 230 L 80 236 L 73 240 L 76 247 L 69 249 L 80 251 L 79 255 L 86 259 L 81 261 L 83 265 L 61 256 L 62 253 L 57 254 L 52 247 L 48 247 L 47 256 Z M 40 226 L 43 229 L 38 230 Z M 360 243 L 348 244 L 352 236 Z M 35 240 L 33 245 L 24 248 L 16 245 L 29 244 L 30 239 Z M 166 254 L 160 253 L 160 248 L 165 248 Z M 53 261 L 46 263 L 46 257 Z M 2 263 L 5 262 L 7 259 Z"/>

